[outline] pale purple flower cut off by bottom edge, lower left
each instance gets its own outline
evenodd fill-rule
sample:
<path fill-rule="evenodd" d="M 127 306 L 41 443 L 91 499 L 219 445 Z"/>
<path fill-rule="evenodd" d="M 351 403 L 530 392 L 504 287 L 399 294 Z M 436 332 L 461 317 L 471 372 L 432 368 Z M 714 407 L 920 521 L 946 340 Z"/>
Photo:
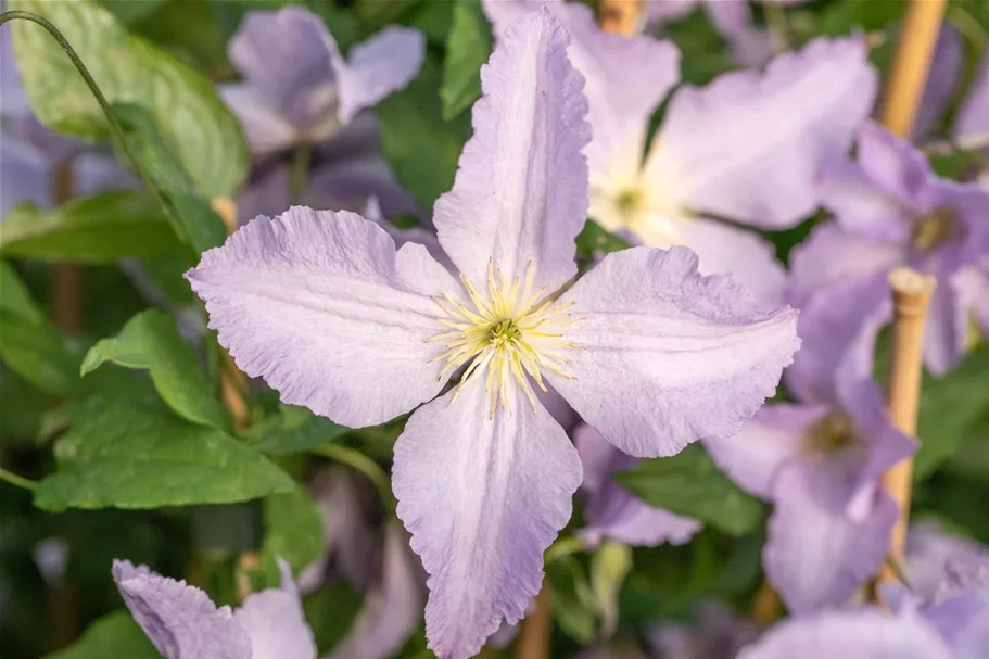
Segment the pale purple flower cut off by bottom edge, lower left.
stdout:
<path fill-rule="evenodd" d="M 240 608 L 217 608 L 203 591 L 128 560 L 113 579 L 137 623 L 164 659 L 316 659 L 288 563 L 281 587 L 249 595 Z"/>

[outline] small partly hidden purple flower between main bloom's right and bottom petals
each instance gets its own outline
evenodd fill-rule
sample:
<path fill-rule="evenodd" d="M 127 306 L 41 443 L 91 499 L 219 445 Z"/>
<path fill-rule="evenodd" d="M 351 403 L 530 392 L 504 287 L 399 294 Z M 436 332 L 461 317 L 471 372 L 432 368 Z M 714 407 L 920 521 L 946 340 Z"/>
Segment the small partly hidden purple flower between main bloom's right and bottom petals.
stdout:
<path fill-rule="evenodd" d="M 610 537 L 637 546 L 682 545 L 703 527 L 696 519 L 655 508 L 619 485 L 611 476 L 638 460 L 614 448 L 591 426 L 579 427 L 573 442 L 584 466 L 581 490 L 587 503 L 581 536 L 588 544 Z"/>

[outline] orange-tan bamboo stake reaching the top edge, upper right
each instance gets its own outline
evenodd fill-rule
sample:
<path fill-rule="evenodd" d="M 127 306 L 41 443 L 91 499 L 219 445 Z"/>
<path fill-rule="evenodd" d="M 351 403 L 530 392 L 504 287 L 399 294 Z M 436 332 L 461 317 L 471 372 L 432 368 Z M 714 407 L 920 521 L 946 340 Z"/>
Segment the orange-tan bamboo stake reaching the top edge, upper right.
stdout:
<path fill-rule="evenodd" d="M 906 8 L 879 112 L 883 124 L 899 137 L 913 130 L 946 4 L 947 0 L 911 0 Z"/>

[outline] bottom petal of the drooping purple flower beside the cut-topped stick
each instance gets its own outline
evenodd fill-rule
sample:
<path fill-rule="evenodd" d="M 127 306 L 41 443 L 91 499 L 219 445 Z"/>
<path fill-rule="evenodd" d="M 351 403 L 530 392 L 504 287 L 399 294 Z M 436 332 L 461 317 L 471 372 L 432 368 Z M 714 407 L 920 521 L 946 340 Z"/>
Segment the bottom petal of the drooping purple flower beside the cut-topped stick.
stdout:
<path fill-rule="evenodd" d="M 850 496 L 846 483 L 810 465 L 795 462 L 776 477 L 763 565 L 795 614 L 844 604 L 883 563 L 897 505 L 878 492 L 857 522 L 846 514 Z"/>

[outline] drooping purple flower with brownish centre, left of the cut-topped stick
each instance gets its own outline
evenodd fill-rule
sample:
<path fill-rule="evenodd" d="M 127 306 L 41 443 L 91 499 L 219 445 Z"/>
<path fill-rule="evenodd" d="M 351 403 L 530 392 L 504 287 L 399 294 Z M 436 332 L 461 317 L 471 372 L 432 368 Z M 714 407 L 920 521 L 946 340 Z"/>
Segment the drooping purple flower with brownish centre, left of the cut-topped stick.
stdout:
<path fill-rule="evenodd" d="M 845 603 L 878 571 L 897 505 L 879 476 L 916 443 L 892 426 L 877 384 L 821 365 L 828 395 L 766 405 L 740 432 L 707 442 L 744 490 L 774 506 L 762 554 L 766 581 L 790 611 Z"/>

